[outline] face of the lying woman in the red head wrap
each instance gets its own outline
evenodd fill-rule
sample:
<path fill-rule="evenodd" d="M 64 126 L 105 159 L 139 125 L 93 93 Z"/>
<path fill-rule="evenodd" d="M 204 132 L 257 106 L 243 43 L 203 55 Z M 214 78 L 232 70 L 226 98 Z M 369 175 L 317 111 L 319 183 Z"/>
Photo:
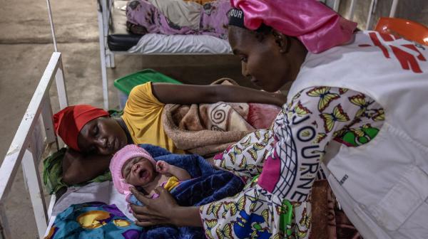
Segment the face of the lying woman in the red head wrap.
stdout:
<path fill-rule="evenodd" d="M 98 117 L 85 124 L 78 134 L 78 147 L 86 154 L 110 155 L 128 143 L 116 119 Z"/>

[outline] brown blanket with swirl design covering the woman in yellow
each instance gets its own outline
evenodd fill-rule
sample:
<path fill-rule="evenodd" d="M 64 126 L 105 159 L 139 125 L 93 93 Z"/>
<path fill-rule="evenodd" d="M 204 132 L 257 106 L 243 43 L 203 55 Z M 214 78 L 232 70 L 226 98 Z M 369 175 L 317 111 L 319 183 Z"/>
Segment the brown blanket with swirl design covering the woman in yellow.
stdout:
<path fill-rule="evenodd" d="M 233 84 L 223 78 L 213 84 Z M 165 105 L 163 127 L 178 149 L 205 157 L 223 152 L 255 129 L 267 128 L 280 107 L 263 104 L 226 103 Z"/>

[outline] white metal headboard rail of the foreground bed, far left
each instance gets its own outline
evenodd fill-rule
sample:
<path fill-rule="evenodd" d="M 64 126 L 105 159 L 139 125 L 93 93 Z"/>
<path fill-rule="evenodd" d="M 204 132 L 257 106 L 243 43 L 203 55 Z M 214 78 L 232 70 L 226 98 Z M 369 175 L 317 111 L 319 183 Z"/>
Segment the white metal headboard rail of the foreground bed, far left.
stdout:
<path fill-rule="evenodd" d="M 39 238 L 43 238 L 46 232 L 51 208 L 55 200 L 51 198 L 51 206 L 48 210 L 39 174 L 39 162 L 46 143 L 56 142 L 58 148 L 49 97 L 49 89 L 54 78 L 56 79 L 59 105 L 62 109 L 68 105 L 68 100 L 63 78 L 61 53 L 58 52 L 52 54 L 0 167 L 0 229 L 2 238 L 11 238 L 4 203 L 21 164 L 24 171 L 24 181 L 30 193 Z"/>

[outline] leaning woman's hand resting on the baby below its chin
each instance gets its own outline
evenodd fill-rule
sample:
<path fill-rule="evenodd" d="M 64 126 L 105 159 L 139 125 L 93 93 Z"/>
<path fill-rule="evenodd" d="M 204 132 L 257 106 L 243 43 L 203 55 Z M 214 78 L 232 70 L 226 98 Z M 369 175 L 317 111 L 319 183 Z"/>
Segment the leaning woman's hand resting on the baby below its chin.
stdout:
<path fill-rule="evenodd" d="M 133 195 L 144 204 L 144 206 L 131 204 L 133 216 L 138 220 L 136 225 L 142 227 L 159 224 L 177 225 L 175 216 L 178 213 L 175 213 L 175 210 L 180 206 L 165 188 L 158 186 L 155 191 L 159 194 L 159 197 L 148 198 L 137 191 L 136 188 L 131 187 Z"/>

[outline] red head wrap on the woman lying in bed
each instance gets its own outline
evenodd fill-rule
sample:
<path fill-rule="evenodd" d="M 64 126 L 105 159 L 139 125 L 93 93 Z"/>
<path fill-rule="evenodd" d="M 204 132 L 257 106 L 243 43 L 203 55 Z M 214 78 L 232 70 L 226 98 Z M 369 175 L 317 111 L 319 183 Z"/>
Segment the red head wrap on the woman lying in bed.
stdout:
<path fill-rule="evenodd" d="M 106 110 L 91 105 L 68 106 L 54 115 L 55 132 L 68 147 L 80 151 L 77 137 L 83 126 L 92 119 L 107 115 L 108 112 Z"/>

